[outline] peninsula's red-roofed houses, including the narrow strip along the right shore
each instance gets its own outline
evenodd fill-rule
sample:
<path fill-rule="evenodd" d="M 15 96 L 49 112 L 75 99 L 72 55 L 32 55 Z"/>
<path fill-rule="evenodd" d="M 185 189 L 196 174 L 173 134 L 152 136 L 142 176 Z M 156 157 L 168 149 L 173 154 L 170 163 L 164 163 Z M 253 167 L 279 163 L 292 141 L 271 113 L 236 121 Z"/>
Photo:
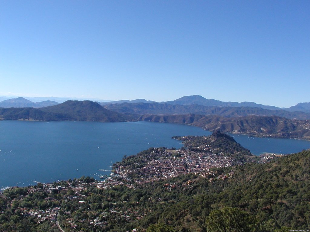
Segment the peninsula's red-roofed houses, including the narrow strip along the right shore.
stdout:
<path fill-rule="evenodd" d="M 212 147 L 207 143 L 193 143 L 195 137 L 184 136 L 182 140 L 191 144 L 191 149 L 170 150 L 162 148 L 154 148 L 153 153 L 157 154 L 159 158 L 152 158 L 153 154 L 149 156 L 144 155 L 142 161 L 147 163 L 143 167 L 132 169 L 131 166 L 119 165 L 115 167 L 115 176 L 122 179 L 134 178 L 136 183 L 147 183 L 158 178 L 176 177 L 180 174 L 195 173 L 201 176 L 208 176 L 210 178 L 211 168 L 222 168 L 234 165 L 243 165 L 244 161 L 237 158 L 235 155 L 226 154 L 218 147 Z M 257 157 L 256 160 L 248 159 L 248 162 L 265 163 L 274 158 L 273 154 L 265 154 Z M 137 163 L 137 166 L 139 164 Z M 232 174 L 231 174 L 232 175 Z M 220 178 L 229 178 L 229 175 L 221 176 Z"/>

